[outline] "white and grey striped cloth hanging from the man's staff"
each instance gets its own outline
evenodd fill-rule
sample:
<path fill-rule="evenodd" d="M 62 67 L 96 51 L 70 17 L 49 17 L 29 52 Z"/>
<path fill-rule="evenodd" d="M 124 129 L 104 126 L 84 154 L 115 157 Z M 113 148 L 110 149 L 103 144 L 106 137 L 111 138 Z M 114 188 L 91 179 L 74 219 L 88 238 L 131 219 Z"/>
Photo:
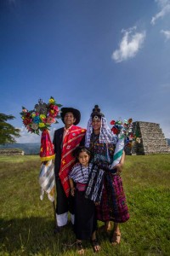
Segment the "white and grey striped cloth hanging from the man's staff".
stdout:
<path fill-rule="evenodd" d="M 48 194 L 48 200 L 53 202 L 55 184 L 53 160 L 42 162 L 39 174 L 39 184 L 41 186 L 40 199 L 43 200 L 43 195 L 46 192 Z"/>

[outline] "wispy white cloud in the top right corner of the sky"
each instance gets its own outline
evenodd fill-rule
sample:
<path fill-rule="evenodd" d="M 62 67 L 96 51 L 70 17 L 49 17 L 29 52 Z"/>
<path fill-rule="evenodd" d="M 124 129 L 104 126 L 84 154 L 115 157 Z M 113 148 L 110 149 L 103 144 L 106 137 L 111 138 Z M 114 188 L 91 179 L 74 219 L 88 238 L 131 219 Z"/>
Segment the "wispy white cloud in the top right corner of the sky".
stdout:
<path fill-rule="evenodd" d="M 170 13 L 170 0 L 155 0 L 158 6 L 161 8 L 160 12 L 152 17 L 150 23 L 155 25 L 156 20 L 163 18 L 165 15 Z"/>

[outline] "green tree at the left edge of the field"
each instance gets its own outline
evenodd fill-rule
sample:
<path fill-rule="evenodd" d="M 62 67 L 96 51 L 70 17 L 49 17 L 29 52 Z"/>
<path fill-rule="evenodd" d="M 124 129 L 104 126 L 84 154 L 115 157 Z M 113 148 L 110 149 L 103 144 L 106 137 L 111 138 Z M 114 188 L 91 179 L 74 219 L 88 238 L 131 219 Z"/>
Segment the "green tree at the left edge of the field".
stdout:
<path fill-rule="evenodd" d="M 20 129 L 6 122 L 14 118 L 12 114 L 0 113 L 0 144 L 16 143 L 14 137 L 20 137 Z"/>

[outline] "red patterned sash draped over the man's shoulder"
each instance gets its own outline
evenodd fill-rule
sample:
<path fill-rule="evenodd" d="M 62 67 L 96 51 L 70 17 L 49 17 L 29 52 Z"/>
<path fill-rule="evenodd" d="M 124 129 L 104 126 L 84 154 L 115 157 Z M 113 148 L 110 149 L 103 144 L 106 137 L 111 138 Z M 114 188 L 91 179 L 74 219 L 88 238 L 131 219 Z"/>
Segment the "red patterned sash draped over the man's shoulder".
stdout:
<path fill-rule="evenodd" d="M 59 169 L 59 178 L 65 190 L 65 195 L 68 197 L 70 193 L 70 183 L 68 174 L 71 171 L 72 166 L 76 162 L 76 157 L 72 155 L 73 150 L 77 148 L 82 141 L 82 137 L 85 136 L 85 129 L 79 126 L 72 125 L 70 131 L 65 136 L 63 142 L 63 149 L 61 154 L 61 165 Z"/>

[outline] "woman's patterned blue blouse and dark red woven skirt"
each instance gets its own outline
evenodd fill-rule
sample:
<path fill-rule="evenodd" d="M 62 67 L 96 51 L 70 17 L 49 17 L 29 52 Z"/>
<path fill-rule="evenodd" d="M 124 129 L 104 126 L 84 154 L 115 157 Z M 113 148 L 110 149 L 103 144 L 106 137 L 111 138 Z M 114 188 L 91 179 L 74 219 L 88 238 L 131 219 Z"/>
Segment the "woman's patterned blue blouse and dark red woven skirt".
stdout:
<path fill-rule="evenodd" d="M 97 209 L 97 219 L 101 221 L 126 222 L 129 218 L 126 197 L 122 187 L 120 175 L 111 173 L 109 166 L 113 161 L 115 151 L 114 143 L 99 143 L 99 135 L 92 133 L 90 149 L 92 161 L 99 169 L 104 170 L 103 191 L 101 201 Z M 116 172 L 116 170 L 112 170 Z"/>

